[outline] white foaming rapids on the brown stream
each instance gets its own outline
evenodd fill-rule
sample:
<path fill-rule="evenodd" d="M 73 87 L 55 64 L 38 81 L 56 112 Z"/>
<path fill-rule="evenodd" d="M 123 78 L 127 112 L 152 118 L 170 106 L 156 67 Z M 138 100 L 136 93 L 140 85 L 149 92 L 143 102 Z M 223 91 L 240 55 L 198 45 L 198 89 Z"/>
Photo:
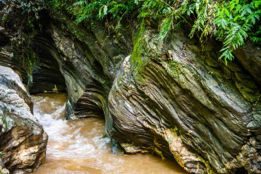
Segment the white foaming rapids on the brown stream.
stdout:
<path fill-rule="evenodd" d="M 56 105 L 56 102 L 49 102 L 47 98 L 41 96 L 37 96 L 36 99 L 37 103 L 34 107 L 34 116 L 43 125 L 43 128 L 49 135 L 49 142 L 52 143 L 48 146 L 47 154 L 57 158 L 86 158 L 86 155 L 88 155 L 89 158 L 95 158 L 102 153 L 98 149 L 108 150 L 109 138 L 103 138 L 102 135 L 99 134 L 92 139 L 88 139 L 88 136 L 80 135 L 80 126 L 83 125 L 71 125 L 67 120 L 61 119 L 60 114 L 65 111 L 65 105 Z M 52 114 L 43 114 L 40 107 L 44 102 L 49 102 L 49 106 L 55 109 Z M 100 130 L 93 128 L 89 133 L 96 135 L 98 131 Z"/>

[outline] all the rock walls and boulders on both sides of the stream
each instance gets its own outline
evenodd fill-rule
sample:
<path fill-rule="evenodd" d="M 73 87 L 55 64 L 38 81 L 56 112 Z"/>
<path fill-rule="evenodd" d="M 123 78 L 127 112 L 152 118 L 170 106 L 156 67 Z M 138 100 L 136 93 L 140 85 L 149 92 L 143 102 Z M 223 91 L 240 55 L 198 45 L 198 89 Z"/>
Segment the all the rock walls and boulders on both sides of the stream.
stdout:
<path fill-rule="evenodd" d="M 23 54 L 0 28 L 2 173 L 44 162 L 47 134 L 30 94 L 57 91 L 67 91 L 68 120 L 104 118 L 104 135 L 124 153 L 154 153 L 189 173 L 261 173 L 260 45 L 223 65 L 220 43 L 202 52 L 181 29 L 161 41 L 152 21 L 118 33 L 67 13 L 43 23 Z"/>

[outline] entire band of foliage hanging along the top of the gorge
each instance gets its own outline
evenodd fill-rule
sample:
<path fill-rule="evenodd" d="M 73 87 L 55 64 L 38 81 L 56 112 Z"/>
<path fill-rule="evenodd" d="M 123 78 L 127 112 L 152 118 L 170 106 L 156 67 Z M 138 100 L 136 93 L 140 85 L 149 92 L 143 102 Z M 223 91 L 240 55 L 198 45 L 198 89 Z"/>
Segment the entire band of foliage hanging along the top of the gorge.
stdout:
<path fill-rule="evenodd" d="M 34 28 L 39 12 L 67 12 L 77 23 L 105 21 L 120 30 L 122 19 L 159 23 L 159 39 L 181 23 L 190 25 L 190 37 L 196 35 L 204 45 L 214 36 L 223 42 L 220 59 L 233 60 L 233 51 L 247 40 L 261 41 L 261 0 L 3 0 L 0 2 L 0 23 L 18 31 L 14 39 L 23 43 L 23 30 Z M 110 21 L 110 23 L 109 23 Z M 114 23 L 111 23 L 114 21 Z M 124 20 L 128 21 L 128 20 Z"/>

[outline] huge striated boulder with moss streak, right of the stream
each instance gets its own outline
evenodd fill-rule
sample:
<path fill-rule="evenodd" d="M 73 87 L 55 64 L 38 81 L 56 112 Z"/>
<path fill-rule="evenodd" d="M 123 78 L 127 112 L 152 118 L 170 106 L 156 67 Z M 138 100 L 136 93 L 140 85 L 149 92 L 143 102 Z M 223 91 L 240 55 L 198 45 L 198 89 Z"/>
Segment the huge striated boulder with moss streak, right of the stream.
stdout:
<path fill-rule="evenodd" d="M 160 43 L 150 31 L 144 41 L 109 94 L 112 137 L 135 145 L 127 153 L 171 155 L 190 173 L 261 173 L 255 81 L 238 64 L 220 65 L 214 49 L 204 58 L 183 32 Z"/>

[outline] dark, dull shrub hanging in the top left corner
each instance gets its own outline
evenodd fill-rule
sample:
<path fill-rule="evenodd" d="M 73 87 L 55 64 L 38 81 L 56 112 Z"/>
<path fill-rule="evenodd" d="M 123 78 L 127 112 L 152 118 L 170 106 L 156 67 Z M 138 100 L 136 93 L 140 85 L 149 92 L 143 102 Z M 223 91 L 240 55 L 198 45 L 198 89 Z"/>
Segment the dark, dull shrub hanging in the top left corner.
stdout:
<path fill-rule="evenodd" d="M 45 0 L 21 1 L 2 0 L 0 1 L 0 25 L 10 30 L 11 43 L 15 47 L 26 47 L 30 45 L 27 34 L 32 32 L 36 22 L 40 19 L 41 10 L 45 9 Z"/>

